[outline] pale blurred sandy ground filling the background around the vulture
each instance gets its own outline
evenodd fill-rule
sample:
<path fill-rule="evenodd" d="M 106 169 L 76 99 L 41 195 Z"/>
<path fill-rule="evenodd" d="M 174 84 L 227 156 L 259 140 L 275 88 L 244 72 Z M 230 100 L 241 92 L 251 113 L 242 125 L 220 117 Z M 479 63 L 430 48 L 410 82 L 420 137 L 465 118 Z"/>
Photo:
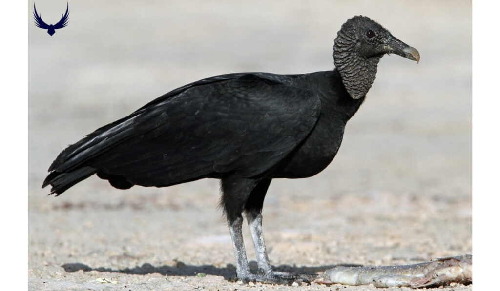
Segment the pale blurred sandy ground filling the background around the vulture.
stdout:
<path fill-rule="evenodd" d="M 49 23 L 65 4 L 36 1 Z M 228 72 L 332 69 L 333 39 L 355 14 L 417 48 L 420 63 L 384 56 L 330 166 L 271 183 L 263 209 L 271 264 L 321 272 L 472 252 L 470 1 L 73 1 L 69 9 L 69 25 L 53 36 L 28 28 L 29 290 L 373 290 L 231 282 L 216 180 L 120 191 L 92 177 L 57 198 L 40 189 L 66 145 L 175 87 Z"/>

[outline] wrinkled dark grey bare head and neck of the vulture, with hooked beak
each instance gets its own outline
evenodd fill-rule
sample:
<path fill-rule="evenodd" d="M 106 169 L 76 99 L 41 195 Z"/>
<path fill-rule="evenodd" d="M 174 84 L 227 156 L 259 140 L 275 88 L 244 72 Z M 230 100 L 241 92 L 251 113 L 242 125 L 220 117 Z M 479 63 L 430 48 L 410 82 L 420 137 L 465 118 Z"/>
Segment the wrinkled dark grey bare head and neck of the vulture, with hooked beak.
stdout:
<path fill-rule="evenodd" d="M 420 60 L 416 49 L 368 17 L 354 16 L 342 25 L 333 45 L 333 61 L 353 99 L 366 95 L 375 80 L 378 61 L 386 53 L 417 63 Z"/>

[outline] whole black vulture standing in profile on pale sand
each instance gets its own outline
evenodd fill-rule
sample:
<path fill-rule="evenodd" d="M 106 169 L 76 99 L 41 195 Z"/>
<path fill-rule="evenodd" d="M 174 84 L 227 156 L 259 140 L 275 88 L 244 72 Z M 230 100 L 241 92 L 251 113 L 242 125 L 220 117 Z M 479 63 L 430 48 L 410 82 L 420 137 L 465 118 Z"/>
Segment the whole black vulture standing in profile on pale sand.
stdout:
<path fill-rule="evenodd" d="M 380 24 L 354 16 L 335 38 L 333 70 L 231 73 L 174 89 L 68 146 L 42 187 L 50 184 L 57 196 L 93 174 L 118 189 L 220 179 L 237 277 L 290 283 L 296 277 L 272 271 L 264 246 L 261 210 L 269 183 L 311 177 L 331 162 L 386 53 L 420 58 Z M 243 213 L 258 274 L 248 268 Z"/>

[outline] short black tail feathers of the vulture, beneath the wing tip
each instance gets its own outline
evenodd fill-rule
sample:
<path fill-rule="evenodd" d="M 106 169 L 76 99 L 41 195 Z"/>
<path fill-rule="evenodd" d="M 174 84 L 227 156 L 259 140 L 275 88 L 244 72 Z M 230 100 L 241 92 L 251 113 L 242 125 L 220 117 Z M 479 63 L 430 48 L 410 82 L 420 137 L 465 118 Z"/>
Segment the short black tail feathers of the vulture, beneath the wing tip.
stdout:
<path fill-rule="evenodd" d="M 41 188 L 51 185 L 52 188 L 50 189 L 49 195 L 55 193 L 55 196 L 59 196 L 74 184 L 95 174 L 95 172 L 96 170 L 90 167 L 78 168 L 67 173 L 53 171 L 45 178 Z"/>

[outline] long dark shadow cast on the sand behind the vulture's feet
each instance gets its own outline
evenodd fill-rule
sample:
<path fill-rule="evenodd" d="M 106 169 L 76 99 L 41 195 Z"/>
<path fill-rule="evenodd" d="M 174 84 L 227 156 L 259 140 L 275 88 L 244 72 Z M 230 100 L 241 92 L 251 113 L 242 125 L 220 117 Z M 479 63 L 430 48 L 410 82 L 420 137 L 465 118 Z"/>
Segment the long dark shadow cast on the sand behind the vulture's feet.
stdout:
<path fill-rule="evenodd" d="M 252 272 L 257 272 L 257 263 L 250 262 L 250 270 Z M 289 265 L 279 265 L 272 266 L 273 270 L 280 272 L 290 272 L 294 274 L 306 275 L 307 277 L 316 277 L 318 272 L 323 272 L 327 269 L 336 267 L 336 266 L 346 266 L 346 267 L 354 267 L 361 265 L 323 265 L 317 267 L 310 266 L 289 266 Z M 97 267 L 91 268 L 85 264 L 81 263 L 67 263 L 61 266 L 66 272 L 73 273 L 77 271 L 98 271 L 98 272 L 109 272 L 109 273 L 122 273 L 122 274 L 133 274 L 133 275 L 146 275 L 158 273 L 163 276 L 197 276 L 197 274 L 203 273 L 206 275 L 213 276 L 222 276 L 225 280 L 235 280 L 236 279 L 236 267 L 232 264 L 227 264 L 224 268 L 217 268 L 213 265 L 201 265 L 201 266 L 193 266 L 193 265 L 185 265 L 182 262 L 177 262 L 175 266 L 167 266 L 163 265 L 160 267 L 154 267 L 149 263 L 144 263 L 142 266 L 137 266 L 134 268 L 124 268 L 113 270 L 110 268 Z"/>

